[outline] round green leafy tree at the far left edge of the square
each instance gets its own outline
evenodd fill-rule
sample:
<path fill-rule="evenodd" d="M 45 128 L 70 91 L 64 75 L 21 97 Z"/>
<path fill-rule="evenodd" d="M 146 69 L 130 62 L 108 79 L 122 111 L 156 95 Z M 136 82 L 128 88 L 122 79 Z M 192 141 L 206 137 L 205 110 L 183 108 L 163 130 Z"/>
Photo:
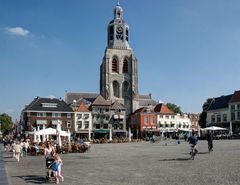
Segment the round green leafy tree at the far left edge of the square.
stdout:
<path fill-rule="evenodd" d="M 13 125 L 12 118 L 9 115 L 3 113 L 0 115 L 0 124 L 1 124 L 1 132 L 4 137 L 8 135 L 12 130 L 12 125 Z"/>

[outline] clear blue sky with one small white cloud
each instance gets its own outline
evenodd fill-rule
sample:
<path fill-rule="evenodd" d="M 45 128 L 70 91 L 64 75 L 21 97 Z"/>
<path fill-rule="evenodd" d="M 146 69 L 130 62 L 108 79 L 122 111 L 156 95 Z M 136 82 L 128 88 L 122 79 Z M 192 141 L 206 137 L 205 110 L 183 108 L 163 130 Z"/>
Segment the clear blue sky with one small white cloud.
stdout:
<path fill-rule="evenodd" d="M 35 97 L 99 92 L 113 0 L 0 0 L 0 113 Z M 121 0 L 139 92 L 201 112 L 240 82 L 239 0 Z"/>

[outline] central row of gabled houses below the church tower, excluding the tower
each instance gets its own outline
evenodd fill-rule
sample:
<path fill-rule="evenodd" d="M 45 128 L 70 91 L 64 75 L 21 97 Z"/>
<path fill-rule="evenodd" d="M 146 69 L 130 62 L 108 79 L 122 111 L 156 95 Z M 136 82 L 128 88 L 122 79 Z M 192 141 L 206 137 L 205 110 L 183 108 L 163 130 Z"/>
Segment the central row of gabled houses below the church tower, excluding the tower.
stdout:
<path fill-rule="evenodd" d="M 141 102 L 153 101 L 144 96 Z M 20 134 L 29 137 L 34 130 L 48 127 L 70 131 L 74 138 L 127 137 L 133 138 L 163 132 L 189 131 L 197 127 L 198 115 L 175 114 L 163 103 L 143 106 L 127 116 L 126 108 L 118 101 L 110 102 L 95 93 L 66 93 L 65 100 L 36 97 L 22 110 Z M 194 125 L 195 124 L 195 125 Z"/>

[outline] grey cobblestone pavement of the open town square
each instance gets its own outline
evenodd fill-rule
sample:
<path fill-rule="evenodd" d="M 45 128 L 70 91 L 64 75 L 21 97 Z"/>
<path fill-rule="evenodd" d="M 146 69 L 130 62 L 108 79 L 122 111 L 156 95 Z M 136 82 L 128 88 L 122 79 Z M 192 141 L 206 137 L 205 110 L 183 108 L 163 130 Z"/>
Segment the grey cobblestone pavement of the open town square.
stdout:
<path fill-rule="evenodd" d="M 195 160 L 189 145 L 168 141 L 95 144 L 89 153 L 61 155 L 65 185 L 239 185 L 240 140 L 214 141 L 208 153 L 200 141 Z M 27 156 L 17 163 L 11 153 L 3 160 L 10 185 L 45 184 L 45 159 Z"/>

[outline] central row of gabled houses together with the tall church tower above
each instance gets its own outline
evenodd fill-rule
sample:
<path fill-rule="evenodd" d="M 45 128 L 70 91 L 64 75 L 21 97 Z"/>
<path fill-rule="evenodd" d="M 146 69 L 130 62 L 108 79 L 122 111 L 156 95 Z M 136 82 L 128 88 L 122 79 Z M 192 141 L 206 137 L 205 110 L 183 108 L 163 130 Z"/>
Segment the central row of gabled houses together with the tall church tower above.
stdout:
<path fill-rule="evenodd" d="M 198 115 L 179 115 L 138 91 L 138 60 L 129 43 L 130 27 L 119 3 L 107 26 L 107 47 L 100 64 L 99 93 L 66 92 L 65 99 L 35 98 L 21 114 L 20 132 L 55 128 L 73 137 L 145 137 L 147 133 L 197 128 Z M 130 133 L 131 131 L 131 133 Z"/>

